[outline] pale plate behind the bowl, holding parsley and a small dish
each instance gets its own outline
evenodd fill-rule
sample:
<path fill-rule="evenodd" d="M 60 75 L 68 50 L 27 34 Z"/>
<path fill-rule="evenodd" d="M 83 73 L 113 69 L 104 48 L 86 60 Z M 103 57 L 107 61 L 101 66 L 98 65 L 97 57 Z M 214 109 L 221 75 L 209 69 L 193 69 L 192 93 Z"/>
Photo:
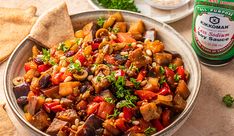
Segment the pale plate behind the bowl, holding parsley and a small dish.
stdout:
<path fill-rule="evenodd" d="M 95 9 L 104 9 L 103 6 L 98 4 L 97 0 L 88 1 Z M 135 3 L 143 15 L 155 18 L 164 23 L 172 23 L 190 15 L 193 12 L 194 6 L 194 0 L 190 0 L 184 6 L 173 10 L 156 9 L 148 5 L 144 0 L 135 0 Z"/>

